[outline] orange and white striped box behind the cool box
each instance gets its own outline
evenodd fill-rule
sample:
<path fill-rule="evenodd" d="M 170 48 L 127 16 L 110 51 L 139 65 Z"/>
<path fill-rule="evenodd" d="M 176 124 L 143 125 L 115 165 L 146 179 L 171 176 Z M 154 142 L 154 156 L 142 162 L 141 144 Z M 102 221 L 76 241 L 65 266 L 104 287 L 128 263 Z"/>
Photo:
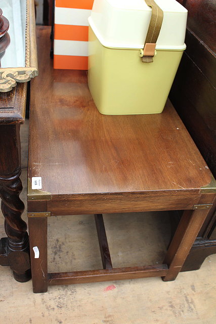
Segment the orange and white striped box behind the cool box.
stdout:
<path fill-rule="evenodd" d="M 88 18 L 94 0 L 56 0 L 54 68 L 88 69 Z"/>

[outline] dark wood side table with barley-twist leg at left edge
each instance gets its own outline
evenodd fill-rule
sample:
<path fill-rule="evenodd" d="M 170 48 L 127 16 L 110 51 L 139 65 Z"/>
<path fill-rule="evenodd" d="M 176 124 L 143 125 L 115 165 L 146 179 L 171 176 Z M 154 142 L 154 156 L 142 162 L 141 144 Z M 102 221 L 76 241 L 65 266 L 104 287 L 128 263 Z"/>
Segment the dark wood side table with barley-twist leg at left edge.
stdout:
<path fill-rule="evenodd" d="M 31 278 L 27 225 L 22 220 L 20 125 L 25 120 L 27 83 L 0 93 L 0 197 L 8 237 L 0 240 L 0 265 L 10 265 L 14 278 Z"/>

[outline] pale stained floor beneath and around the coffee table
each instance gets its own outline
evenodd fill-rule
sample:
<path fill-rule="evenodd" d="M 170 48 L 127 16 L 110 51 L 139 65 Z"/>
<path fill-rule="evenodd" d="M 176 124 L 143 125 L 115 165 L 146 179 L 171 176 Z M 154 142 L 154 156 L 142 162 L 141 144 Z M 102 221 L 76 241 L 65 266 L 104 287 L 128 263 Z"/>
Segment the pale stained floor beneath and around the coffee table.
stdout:
<path fill-rule="evenodd" d="M 26 201 L 28 120 L 22 126 L 21 198 Z M 1 215 L 2 216 L 2 215 Z M 26 211 L 23 219 L 27 221 Z M 166 213 L 105 215 L 114 267 L 160 263 L 169 241 Z M 0 218 L 0 237 L 5 236 Z M 49 220 L 49 271 L 101 268 L 91 215 Z M 0 323 L 5 324 L 214 324 L 216 255 L 200 270 L 182 272 L 176 281 L 160 278 L 49 287 L 33 294 L 31 281 L 15 281 L 0 268 Z"/>

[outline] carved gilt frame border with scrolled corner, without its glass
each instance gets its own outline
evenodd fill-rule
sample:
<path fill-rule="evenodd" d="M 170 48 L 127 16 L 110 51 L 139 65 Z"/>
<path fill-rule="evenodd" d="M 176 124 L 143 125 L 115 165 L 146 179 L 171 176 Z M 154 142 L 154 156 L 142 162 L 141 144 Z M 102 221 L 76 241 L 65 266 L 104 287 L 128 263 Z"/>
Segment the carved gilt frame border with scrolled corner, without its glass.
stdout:
<path fill-rule="evenodd" d="M 17 82 L 38 75 L 34 0 L 26 0 L 25 67 L 0 68 L 0 92 L 8 92 Z"/>

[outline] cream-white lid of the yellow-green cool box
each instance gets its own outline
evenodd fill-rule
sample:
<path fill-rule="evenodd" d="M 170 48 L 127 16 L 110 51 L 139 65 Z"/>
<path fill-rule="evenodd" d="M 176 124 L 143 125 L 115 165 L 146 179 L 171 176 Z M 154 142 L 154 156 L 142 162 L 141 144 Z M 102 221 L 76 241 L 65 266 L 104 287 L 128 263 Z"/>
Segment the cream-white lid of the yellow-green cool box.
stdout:
<path fill-rule="evenodd" d="M 163 11 L 156 49 L 184 50 L 187 10 L 176 0 L 155 0 L 155 3 Z M 89 24 L 105 47 L 141 49 L 151 10 L 145 0 L 95 0 Z"/>

